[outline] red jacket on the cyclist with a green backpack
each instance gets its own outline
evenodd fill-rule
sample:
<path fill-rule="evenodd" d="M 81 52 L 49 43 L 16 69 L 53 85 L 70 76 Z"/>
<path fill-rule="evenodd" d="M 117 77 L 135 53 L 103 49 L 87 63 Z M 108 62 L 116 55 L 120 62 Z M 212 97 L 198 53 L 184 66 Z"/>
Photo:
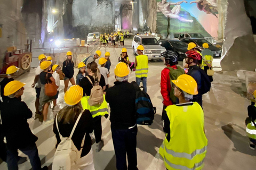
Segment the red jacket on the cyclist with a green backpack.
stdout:
<path fill-rule="evenodd" d="M 167 65 L 167 67 L 170 67 L 170 65 Z M 171 66 L 173 69 L 177 69 L 176 65 Z M 164 98 L 164 106 L 173 105 L 172 100 L 169 97 L 170 91 L 171 91 L 171 82 L 170 82 L 170 76 L 169 76 L 170 70 L 167 68 L 164 68 L 161 72 L 161 94 Z"/>

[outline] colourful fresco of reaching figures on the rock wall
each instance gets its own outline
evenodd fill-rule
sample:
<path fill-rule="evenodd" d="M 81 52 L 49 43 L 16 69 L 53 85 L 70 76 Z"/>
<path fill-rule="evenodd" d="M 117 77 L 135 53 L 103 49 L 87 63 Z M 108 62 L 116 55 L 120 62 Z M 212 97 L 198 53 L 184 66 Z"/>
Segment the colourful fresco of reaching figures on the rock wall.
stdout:
<path fill-rule="evenodd" d="M 201 33 L 218 37 L 217 0 L 157 0 L 157 32 L 163 38 L 174 33 Z"/>

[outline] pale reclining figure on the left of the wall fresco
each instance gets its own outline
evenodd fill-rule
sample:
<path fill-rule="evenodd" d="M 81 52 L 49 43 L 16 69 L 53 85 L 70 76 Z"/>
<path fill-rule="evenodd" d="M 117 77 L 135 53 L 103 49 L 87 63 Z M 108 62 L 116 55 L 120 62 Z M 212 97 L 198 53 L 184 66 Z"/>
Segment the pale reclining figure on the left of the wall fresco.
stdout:
<path fill-rule="evenodd" d="M 157 3 L 156 11 L 162 12 L 162 14 L 164 14 L 164 16 L 166 16 L 167 18 L 178 19 L 182 22 L 193 22 L 193 20 L 187 20 L 187 19 L 179 16 L 180 9 L 181 9 L 180 4 L 182 4 L 183 2 L 188 3 L 187 1 L 180 1 L 177 3 L 169 3 L 169 2 L 167 2 L 167 0 L 162 0 L 162 2 Z M 176 5 L 176 6 L 174 6 L 171 10 L 170 9 L 171 5 Z"/>

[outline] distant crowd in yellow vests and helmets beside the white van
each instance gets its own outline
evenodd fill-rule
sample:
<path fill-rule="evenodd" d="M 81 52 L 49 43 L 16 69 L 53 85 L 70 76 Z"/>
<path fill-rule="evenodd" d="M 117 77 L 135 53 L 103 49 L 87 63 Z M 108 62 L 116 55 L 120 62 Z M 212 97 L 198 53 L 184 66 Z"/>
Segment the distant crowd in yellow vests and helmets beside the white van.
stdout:
<path fill-rule="evenodd" d="M 118 45 L 120 46 L 124 46 L 124 39 L 129 37 L 129 31 L 127 32 L 122 32 L 122 31 L 118 31 L 118 32 L 111 32 L 111 34 L 107 34 L 104 33 L 100 35 L 100 46 L 103 47 L 118 47 Z"/>

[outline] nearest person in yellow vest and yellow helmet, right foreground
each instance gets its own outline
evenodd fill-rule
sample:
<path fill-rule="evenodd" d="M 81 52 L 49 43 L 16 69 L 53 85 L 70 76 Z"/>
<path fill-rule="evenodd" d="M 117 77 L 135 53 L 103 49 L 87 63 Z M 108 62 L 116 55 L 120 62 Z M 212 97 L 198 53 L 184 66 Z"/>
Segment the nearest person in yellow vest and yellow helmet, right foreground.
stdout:
<path fill-rule="evenodd" d="M 172 80 L 179 104 L 170 105 L 163 115 L 165 139 L 159 148 L 166 169 L 202 169 L 207 139 L 204 133 L 204 112 L 197 102 L 190 102 L 198 93 L 196 81 L 187 74 Z"/>

